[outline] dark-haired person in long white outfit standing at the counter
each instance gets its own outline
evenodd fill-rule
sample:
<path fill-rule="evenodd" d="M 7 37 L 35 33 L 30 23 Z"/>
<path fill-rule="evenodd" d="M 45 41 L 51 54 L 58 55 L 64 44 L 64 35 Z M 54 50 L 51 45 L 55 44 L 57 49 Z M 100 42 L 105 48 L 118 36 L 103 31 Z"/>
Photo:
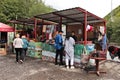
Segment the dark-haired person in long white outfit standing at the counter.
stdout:
<path fill-rule="evenodd" d="M 71 37 L 70 33 L 67 33 L 66 40 L 65 40 L 65 63 L 66 68 L 69 68 L 69 61 L 70 61 L 70 68 L 74 68 L 74 45 L 75 40 Z"/>

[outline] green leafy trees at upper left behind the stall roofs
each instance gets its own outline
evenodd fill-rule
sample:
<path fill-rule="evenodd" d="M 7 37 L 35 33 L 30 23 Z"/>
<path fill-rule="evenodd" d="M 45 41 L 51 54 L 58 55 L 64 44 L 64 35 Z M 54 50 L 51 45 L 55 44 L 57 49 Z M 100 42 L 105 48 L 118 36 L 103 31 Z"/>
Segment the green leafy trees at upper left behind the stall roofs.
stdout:
<path fill-rule="evenodd" d="M 0 22 L 4 23 L 12 19 L 31 18 L 54 10 L 42 0 L 1 0 L 0 4 Z"/>

